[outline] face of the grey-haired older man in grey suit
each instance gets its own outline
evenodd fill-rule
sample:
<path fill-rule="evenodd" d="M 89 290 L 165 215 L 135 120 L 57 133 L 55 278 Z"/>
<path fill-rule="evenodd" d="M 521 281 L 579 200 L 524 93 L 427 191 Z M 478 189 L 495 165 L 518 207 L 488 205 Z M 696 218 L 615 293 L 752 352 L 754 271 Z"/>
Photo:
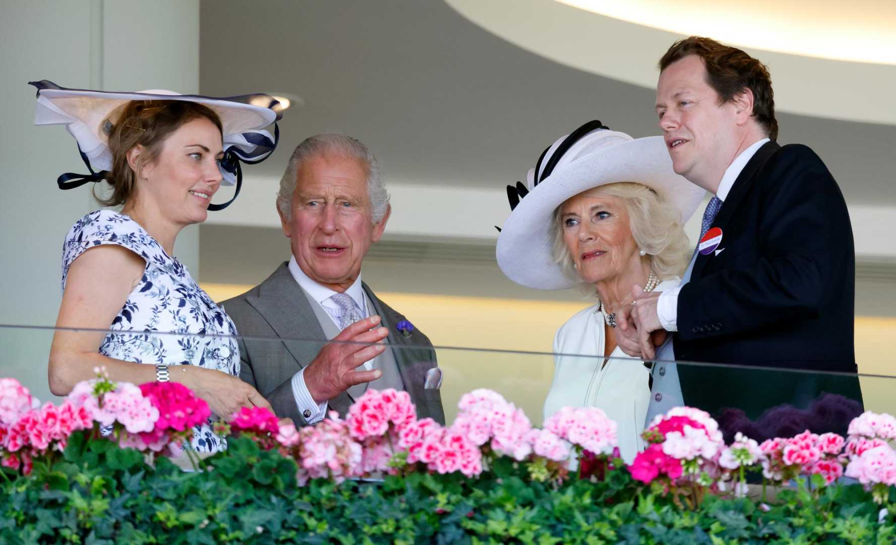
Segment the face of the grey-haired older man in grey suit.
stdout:
<path fill-rule="evenodd" d="M 299 268 L 332 290 L 347 290 L 388 220 L 387 213 L 373 222 L 364 166 L 338 155 L 305 160 L 296 172 L 290 209 L 289 219 L 280 213 L 280 223 Z"/>

